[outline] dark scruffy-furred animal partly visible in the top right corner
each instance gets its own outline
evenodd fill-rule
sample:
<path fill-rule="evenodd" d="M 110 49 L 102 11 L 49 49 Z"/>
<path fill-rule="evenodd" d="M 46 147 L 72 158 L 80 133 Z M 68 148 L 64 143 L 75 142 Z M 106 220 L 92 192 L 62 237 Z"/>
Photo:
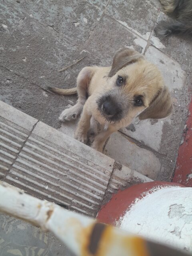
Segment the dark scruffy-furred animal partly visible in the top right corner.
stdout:
<path fill-rule="evenodd" d="M 192 0 L 160 0 L 167 13 L 172 13 L 176 19 L 161 21 L 155 28 L 160 37 L 170 34 L 192 34 Z"/>

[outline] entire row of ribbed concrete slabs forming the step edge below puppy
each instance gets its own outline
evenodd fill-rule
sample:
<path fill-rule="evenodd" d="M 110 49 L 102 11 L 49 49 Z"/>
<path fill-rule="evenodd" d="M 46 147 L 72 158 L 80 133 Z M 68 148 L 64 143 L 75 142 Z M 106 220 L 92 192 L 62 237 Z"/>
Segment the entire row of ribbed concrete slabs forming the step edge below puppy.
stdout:
<path fill-rule="evenodd" d="M 90 216 L 118 189 L 150 181 L 1 101 L 0 161 L 0 180 Z"/>

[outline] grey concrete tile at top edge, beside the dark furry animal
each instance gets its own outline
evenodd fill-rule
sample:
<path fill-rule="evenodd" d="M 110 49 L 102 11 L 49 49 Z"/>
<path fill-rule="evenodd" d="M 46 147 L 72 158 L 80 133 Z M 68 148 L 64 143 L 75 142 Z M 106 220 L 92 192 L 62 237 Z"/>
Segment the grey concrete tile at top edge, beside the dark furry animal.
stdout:
<path fill-rule="evenodd" d="M 112 0 L 107 7 L 106 14 L 133 29 L 136 34 L 141 34 L 147 40 L 159 11 L 146 0 Z"/>

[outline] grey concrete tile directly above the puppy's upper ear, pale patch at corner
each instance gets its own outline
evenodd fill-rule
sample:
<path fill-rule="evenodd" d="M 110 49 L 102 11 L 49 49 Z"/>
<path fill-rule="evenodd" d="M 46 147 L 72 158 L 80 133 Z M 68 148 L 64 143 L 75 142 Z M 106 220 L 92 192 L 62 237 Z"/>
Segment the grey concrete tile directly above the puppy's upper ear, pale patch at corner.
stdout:
<path fill-rule="evenodd" d="M 114 31 L 116 32 L 114 33 Z M 129 47 L 144 53 L 146 45 L 147 42 L 144 39 L 130 32 L 116 20 L 104 15 L 90 35 L 85 47 L 91 53 L 106 60 L 108 65 L 111 65 L 114 53 L 119 48 Z"/>

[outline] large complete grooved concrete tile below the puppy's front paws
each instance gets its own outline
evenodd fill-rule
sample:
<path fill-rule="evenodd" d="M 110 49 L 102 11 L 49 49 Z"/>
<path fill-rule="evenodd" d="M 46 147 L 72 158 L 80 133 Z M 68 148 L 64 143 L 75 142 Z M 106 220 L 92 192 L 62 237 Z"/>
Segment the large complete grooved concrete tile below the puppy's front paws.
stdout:
<path fill-rule="evenodd" d="M 114 160 L 38 122 L 6 182 L 64 207 L 95 216 Z"/>

